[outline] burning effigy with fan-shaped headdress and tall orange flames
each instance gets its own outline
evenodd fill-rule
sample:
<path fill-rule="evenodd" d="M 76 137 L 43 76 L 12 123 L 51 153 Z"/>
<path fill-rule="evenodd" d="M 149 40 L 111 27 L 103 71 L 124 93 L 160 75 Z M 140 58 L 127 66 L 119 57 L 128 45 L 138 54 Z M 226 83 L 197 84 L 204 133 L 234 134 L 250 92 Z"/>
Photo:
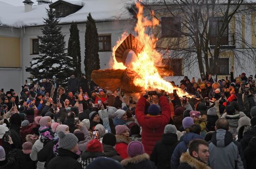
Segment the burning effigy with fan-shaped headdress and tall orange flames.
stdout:
<path fill-rule="evenodd" d="M 93 71 L 92 80 L 110 91 L 121 88 L 126 93 L 138 93 L 158 89 L 172 93 L 175 89 L 179 96 L 188 96 L 188 93 L 163 79 L 163 76 L 172 76 L 173 73 L 162 65 L 162 55 L 155 49 L 158 39 L 146 33 L 146 29 L 157 26 L 159 20 L 155 17 L 148 20 L 143 17 L 143 7 L 139 3 L 136 7 L 137 35 L 124 32 L 113 47 L 112 69 Z M 154 16 L 154 12 L 151 14 Z"/>

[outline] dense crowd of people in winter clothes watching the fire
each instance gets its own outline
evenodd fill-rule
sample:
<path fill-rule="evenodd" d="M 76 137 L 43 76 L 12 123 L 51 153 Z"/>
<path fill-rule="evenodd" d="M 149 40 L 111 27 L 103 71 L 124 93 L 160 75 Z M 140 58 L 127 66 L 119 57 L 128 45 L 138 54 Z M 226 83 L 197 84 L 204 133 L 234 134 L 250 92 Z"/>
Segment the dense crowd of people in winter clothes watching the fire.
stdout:
<path fill-rule="evenodd" d="M 67 88 L 54 76 L 2 89 L 0 169 L 254 169 L 255 81 L 184 77 L 187 97 L 145 91 L 132 102 L 84 75 Z"/>

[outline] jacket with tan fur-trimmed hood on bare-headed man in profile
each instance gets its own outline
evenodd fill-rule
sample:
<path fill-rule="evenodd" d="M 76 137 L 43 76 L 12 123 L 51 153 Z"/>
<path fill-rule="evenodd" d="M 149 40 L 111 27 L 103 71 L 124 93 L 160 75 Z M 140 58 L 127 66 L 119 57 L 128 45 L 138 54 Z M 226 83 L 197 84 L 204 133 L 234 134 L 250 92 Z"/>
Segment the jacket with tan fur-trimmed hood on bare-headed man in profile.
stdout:
<path fill-rule="evenodd" d="M 203 163 L 189 153 L 183 153 L 181 156 L 181 164 L 178 169 L 211 169 L 206 163 Z"/>

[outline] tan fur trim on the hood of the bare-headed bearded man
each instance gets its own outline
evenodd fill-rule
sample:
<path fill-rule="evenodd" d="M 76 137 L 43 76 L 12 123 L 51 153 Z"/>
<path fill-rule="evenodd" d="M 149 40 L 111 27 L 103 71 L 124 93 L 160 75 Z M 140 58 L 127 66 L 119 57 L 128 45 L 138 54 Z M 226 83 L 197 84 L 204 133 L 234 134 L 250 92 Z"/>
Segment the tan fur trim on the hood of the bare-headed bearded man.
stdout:
<path fill-rule="evenodd" d="M 183 153 L 180 158 L 180 163 L 187 163 L 195 169 L 211 169 L 206 163 L 203 163 L 189 155 L 188 152 Z"/>

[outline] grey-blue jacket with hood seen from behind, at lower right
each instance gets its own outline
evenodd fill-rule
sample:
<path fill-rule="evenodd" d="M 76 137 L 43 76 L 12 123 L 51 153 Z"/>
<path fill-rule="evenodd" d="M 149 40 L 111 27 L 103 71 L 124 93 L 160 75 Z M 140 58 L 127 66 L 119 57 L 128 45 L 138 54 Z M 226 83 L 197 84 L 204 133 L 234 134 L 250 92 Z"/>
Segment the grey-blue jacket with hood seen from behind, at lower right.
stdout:
<path fill-rule="evenodd" d="M 241 144 L 233 141 L 227 130 L 219 129 L 212 135 L 209 154 L 212 169 L 246 169 Z"/>

